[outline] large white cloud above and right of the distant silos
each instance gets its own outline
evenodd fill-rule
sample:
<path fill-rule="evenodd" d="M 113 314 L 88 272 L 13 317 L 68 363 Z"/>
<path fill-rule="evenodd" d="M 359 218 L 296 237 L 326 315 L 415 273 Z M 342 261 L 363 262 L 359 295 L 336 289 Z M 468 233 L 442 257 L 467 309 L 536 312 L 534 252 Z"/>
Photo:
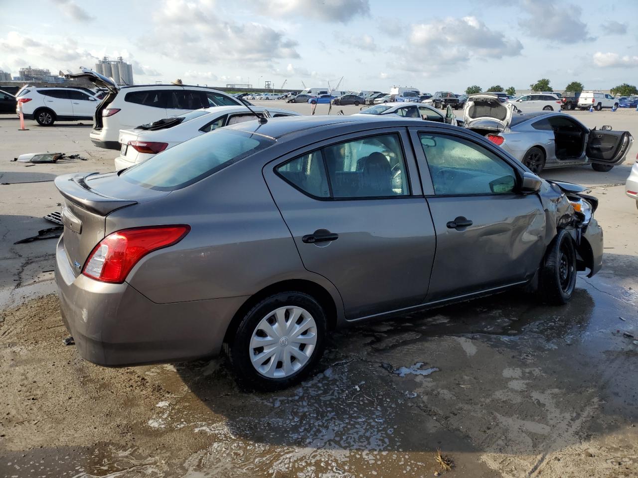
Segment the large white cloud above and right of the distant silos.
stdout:
<path fill-rule="evenodd" d="M 152 32 L 142 38 L 142 46 L 178 61 L 227 62 L 235 67 L 299 57 L 297 41 L 282 31 L 254 22 L 237 23 L 218 13 L 211 0 L 165 0 L 153 15 Z"/>

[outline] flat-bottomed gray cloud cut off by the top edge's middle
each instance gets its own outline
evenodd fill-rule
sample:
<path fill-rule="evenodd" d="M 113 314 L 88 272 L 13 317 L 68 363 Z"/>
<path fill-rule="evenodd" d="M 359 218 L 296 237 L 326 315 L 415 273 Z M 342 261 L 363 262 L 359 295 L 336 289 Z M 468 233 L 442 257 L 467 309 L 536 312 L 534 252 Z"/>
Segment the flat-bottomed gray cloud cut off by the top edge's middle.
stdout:
<path fill-rule="evenodd" d="M 260 0 L 267 15 L 300 15 L 322 22 L 348 23 L 370 14 L 368 0 Z"/>

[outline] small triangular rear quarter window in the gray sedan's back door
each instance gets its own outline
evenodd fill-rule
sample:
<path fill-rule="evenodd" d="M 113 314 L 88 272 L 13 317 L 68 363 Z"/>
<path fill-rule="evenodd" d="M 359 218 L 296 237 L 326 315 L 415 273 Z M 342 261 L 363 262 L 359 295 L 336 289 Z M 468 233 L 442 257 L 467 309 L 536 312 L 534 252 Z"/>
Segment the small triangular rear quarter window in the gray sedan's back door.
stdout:
<path fill-rule="evenodd" d="M 281 164 L 277 167 L 277 172 L 297 189 L 311 196 L 330 197 L 321 151 L 313 151 Z"/>

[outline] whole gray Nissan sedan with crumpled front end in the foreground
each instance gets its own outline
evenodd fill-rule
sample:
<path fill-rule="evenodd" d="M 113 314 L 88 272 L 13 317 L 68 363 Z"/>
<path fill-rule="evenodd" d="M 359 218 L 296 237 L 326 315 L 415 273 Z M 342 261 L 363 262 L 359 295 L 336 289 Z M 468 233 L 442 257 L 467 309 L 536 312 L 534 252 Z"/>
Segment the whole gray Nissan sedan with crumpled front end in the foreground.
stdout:
<path fill-rule="evenodd" d="M 244 122 L 56 187 L 56 280 L 80 355 L 124 366 L 224 349 L 258 389 L 304 379 L 335 328 L 510 287 L 563 304 L 576 272 L 602 264 L 582 187 L 420 119 Z"/>

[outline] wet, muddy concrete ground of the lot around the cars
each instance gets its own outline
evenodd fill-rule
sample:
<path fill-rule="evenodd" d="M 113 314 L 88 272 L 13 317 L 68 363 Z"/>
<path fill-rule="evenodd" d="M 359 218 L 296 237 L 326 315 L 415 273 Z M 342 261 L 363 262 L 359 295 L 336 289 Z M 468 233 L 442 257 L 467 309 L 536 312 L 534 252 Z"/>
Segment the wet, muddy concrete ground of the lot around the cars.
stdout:
<path fill-rule="evenodd" d="M 634 111 L 573 114 L 638 131 Z M 54 226 L 56 175 L 112 170 L 117 153 L 89 125 L 27 127 L 0 115 L 0 476 L 423 477 L 443 473 L 437 449 L 450 476 L 638 476 L 638 210 L 623 189 L 638 143 L 608 173 L 543 174 L 600 199 L 604 268 L 568 305 L 508 292 L 339 331 L 311 379 L 265 394 L 239 391 L 223 358 L 107 369 L 62 344 L 55 240 L 13 243 Z M 11 161 L 41 150 L 86 161 Z"/>

